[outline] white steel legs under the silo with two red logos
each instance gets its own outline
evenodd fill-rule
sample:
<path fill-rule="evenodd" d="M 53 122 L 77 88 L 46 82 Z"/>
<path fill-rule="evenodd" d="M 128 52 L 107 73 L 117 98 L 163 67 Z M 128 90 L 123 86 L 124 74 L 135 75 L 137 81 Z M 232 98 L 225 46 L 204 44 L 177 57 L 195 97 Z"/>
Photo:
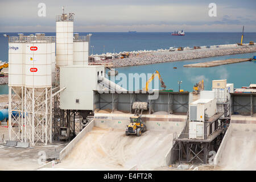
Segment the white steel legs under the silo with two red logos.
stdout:
<path fill-rule="evenodd" d="M 52 142 L 52 88 L 25 88 L 24 140 L 34 146 L 37 142 Z"/>

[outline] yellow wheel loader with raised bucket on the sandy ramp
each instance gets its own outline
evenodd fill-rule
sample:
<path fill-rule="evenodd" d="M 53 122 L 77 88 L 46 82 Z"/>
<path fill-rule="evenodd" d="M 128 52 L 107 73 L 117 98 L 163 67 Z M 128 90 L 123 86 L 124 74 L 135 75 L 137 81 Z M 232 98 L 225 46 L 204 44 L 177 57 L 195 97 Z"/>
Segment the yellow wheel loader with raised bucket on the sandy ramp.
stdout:
<path fill-rule="evenodd" d="M 147 110 L 147 102 L 134 102 L 133 109 L 135 109 L 134 116 L 130 117 L 130 124 L 127 125 L 125 135 L 137 135 L 137 137 L 141 137 L 141 133 L 146 131 L 146 125 L 141 119 L 141 115 L 137 114 L 137 111 L 141 110 L 141 114 L 143 110 Z"/>

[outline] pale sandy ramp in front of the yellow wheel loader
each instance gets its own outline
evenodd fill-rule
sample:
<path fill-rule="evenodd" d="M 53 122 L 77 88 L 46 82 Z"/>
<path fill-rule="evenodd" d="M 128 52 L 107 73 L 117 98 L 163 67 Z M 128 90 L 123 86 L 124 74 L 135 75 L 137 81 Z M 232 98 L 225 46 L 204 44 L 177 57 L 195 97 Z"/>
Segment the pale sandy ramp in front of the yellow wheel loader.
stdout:
<path fill-rule="evenodd" d="M 141 137 L 125 136 L 123 130 L 94 127 L 56 168 L 139 170 L 165 166 L 165 155 L 172 146 L 172 133 L 146 131 Z"/>

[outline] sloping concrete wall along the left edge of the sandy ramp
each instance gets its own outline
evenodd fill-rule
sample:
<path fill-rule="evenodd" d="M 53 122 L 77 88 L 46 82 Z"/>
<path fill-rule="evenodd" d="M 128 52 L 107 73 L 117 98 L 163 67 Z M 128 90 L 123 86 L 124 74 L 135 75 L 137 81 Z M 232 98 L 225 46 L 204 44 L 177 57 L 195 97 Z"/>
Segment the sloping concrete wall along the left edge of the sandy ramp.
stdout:
<path fill-rule="evenodd" d="M 79 140 L 83 138 L 86 133 L 90 132 L 93 129 L 93 126 L 94 119 L 71 142 L 69 142 L 69 144 L 65 148 L 63 148 L 63 150 L 60 151 L 60 160 L 63 160 L 65 156 L 67 156 L 69 152 L 72 151 L 72 149 L 76 146 Z"/>

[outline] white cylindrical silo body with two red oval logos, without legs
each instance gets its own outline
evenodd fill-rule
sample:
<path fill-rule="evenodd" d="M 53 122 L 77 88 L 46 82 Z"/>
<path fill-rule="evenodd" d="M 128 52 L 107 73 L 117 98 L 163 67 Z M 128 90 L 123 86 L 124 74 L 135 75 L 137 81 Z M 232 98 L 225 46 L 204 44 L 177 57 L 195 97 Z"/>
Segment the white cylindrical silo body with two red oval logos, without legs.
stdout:
<path fill-rule="evenodd" d="M 25 56 L 25 86 L 52 85 L 52 43 L 27 43 Z"/>

